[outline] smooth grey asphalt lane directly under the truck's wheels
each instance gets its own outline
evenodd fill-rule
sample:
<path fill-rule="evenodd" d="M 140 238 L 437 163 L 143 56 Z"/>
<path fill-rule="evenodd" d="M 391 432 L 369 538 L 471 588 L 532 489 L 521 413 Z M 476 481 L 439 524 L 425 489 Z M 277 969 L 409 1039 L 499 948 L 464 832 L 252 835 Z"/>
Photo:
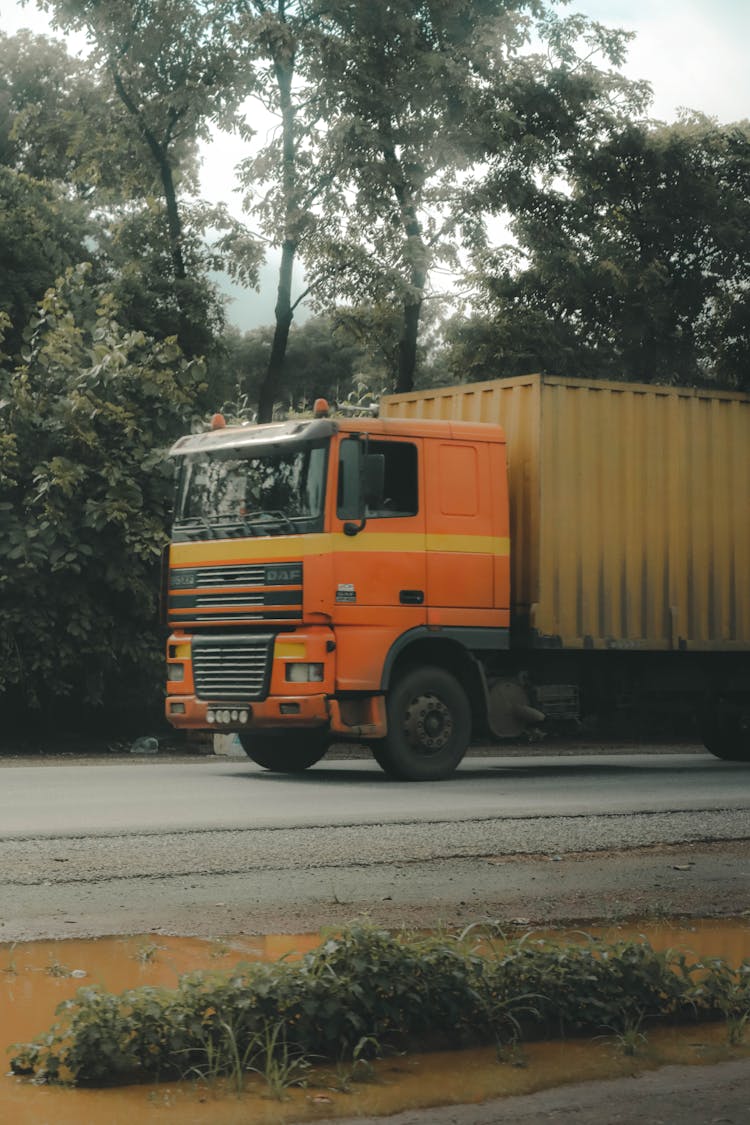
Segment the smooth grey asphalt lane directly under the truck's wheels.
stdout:
<path fill-rule="evenodd" d="M 220 758 L 0 770 L 0 838 L 750 809 L 747 766 L 689 753 L 472 757 L 418 785 L 368 760 L 297 777 Z"/>

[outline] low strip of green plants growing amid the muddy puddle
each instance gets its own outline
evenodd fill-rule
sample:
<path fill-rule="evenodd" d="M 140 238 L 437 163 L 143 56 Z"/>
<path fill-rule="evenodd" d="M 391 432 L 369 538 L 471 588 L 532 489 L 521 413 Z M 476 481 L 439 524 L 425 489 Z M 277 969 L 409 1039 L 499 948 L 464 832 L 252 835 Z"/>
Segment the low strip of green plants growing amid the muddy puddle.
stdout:
<path fill-rule="evenodd" d="M 396 937 L 355 925 L 296 964 L 193 973 L 171 992 L 81 989 L 48 1033 L 16 1048 L 11 1065 L 78 1084 L 228 1074 L 238 1089 L 244 1072 L 256 1070 L 278 1092 L 304 1077 L 313 1056 L 341 1065 L 388 1045 L 515 1050 L 522 1036 L 603 1028 L 638 1045 L 645 1018 L 716 1018 L 728 1005 L 749 1007 L 750 962 L 688 964 L 645 940 L 475 938 Z"/>

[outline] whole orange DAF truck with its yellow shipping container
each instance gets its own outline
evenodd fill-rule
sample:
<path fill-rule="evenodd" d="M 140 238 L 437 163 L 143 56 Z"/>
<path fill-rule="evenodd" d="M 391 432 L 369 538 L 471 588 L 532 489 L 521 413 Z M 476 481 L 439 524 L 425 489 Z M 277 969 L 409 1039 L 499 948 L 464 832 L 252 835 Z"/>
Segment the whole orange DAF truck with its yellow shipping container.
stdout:
<path fill-rule="evenodd" d="M 182 438 L 166 717 L 437 780 L 472 738 L 694 709 L 750 760 L 750 396 L 528 376 Z"/>

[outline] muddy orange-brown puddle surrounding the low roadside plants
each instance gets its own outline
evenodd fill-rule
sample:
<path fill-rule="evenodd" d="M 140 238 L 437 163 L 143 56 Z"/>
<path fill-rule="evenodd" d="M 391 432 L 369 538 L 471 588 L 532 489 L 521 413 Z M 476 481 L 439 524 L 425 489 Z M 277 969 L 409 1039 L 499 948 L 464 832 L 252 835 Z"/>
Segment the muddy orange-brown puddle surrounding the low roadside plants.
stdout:
<path fill-rule="evenodd" d="M 654 948 L 684 950 L 701 957 L 739 964 L 750 957 L 750 918 L 611 925 L 596 933 L 608 940 L 644 935 Z M 557 930 L 561 939 L 571 937 Z M 318 934 L 236 937 L 206 942 L 163 936 L 105 937 L 96 940 L 0 945 L 0 1047 L 45 1032 L 56 1006 L 82 986 L 119 992 L 139 984 L 172 987 L 184 972 L 231 969 L 242 961 L 299 956 L 320 942 Z M 336 1068 L 314 1070 L 305 1089 L 284 1100 L 269 1096 L 251 1076 L 240 1096 L 220 1083 L 184 1081 L 112 1090 L 35 1087 L 12 1076 L 0 1079 L 0 1122 L 13 1125 L 138 1125 L 210 1122 L 240 1125 L 287 1123 L 323 1117 L 391 1114 L 406 1108 L 479 1102 L 490 1097 L 532 1092 L 566 1081 L 618 1077 L 666 1063 L 710 1063 L 748 1053 L 729 1048 L 724 1025 L 648 1029 L 639 1055 L 623 1055 L 614 1037 L 533 1043 L 498 1062 L 494 1048 L 455 1054 L 405 1055 L 376 1062 L 354 1076 Z M 362 1080 L 367 1078 L 367 1080 Z"/>

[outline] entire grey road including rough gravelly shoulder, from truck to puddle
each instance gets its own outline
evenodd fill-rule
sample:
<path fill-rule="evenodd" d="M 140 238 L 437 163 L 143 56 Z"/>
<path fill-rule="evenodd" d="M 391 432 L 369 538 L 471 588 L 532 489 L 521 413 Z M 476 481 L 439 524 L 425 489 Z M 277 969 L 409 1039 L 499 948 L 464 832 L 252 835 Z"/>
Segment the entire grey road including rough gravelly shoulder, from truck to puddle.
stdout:
<path fill-rule="evenodd" d="M 4 764 L 0 940 L 738 912 L 749 778 L 697 753 L 471 758 L 426 785 L 350 760 Z"/>

